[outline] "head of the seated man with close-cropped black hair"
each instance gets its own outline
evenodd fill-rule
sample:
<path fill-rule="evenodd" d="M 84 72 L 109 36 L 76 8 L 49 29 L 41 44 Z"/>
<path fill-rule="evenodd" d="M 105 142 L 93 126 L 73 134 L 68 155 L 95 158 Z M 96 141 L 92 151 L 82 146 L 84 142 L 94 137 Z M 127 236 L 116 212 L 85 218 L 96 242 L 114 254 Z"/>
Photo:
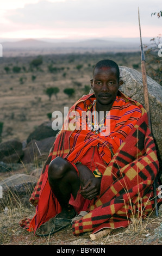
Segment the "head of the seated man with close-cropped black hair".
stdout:
<path fill-rule="evenodd" d="M 113 60 L 104 59 L 96 63 L 91 87 L 97 99 L 98 109 L 106 106 L 108 110 L 111 108 L 120 84 L 119 66 Z"/>

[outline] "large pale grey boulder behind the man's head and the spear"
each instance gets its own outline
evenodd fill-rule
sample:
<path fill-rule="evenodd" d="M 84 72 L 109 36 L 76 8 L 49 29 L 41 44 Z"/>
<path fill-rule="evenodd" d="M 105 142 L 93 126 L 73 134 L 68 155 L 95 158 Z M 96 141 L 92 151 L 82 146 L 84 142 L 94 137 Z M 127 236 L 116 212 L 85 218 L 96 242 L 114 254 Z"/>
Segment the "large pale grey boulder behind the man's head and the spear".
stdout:
<path fill-rule="evenodd" d="M 145 107 L 144 92 L 141 72 L 120 66 L 120 78 L 123 81 L 120 86 L 121 92 L 140 102 Z M 151 77 L 147 76 L 147 86 L 149 94 L 149 107 L 151 113 L 152 134 L 157 147 L 158 159 L 161 166 L 162 159 L 162 87 Z M 91 92 L 92 93 L 92 90 Z"/>

